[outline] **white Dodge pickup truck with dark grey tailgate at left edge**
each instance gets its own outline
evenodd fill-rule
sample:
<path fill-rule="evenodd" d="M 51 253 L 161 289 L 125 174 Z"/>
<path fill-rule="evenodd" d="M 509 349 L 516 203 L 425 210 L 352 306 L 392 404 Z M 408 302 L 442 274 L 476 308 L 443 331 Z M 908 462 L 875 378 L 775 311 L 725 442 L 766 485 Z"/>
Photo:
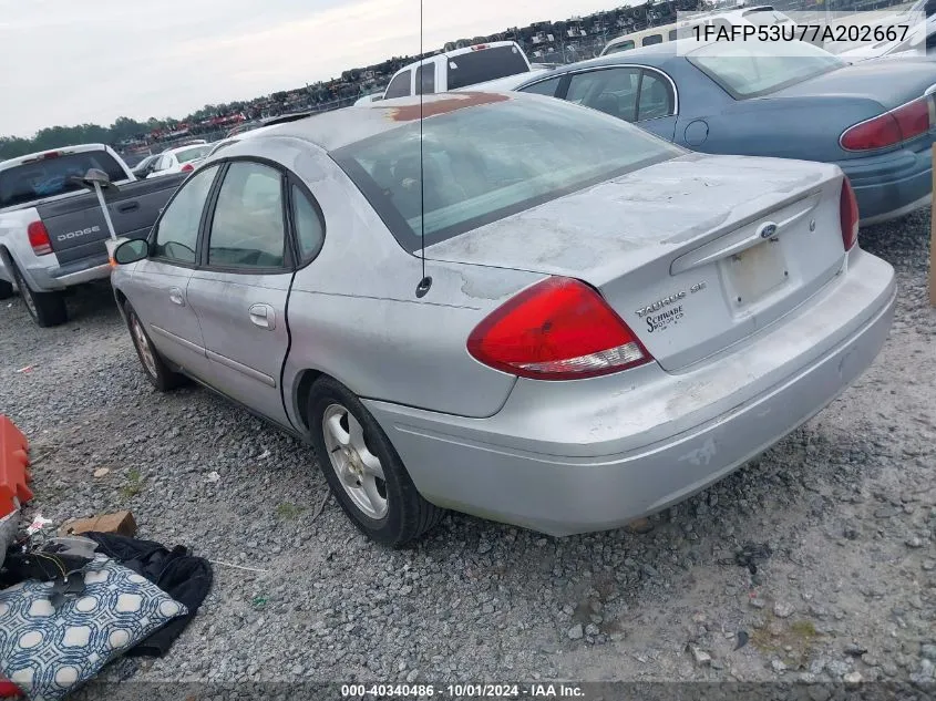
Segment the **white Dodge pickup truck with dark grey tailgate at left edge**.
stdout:
<path fill-rule="evenodd" d="M 117 236 L 144 238 L 187 173 L 137 181 L 103 144 L 69 146 L 0 162 L 0 299 L 16 287 L 41 327 L 68 320 L 64 290 L 110 277 L 110 237 L 94 193 L 74 182 L 107 174 Z"/>

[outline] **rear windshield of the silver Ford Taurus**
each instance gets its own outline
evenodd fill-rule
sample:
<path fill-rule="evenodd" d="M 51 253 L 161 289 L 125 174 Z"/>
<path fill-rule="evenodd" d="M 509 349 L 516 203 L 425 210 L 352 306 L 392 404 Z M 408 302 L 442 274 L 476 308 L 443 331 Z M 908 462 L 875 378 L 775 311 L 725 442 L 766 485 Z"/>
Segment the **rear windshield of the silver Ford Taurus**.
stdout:
<path fill-rule="evenodd" d="M 428 117 L 423 133 L 422 167 L 419 122 L 332 153 L 409 251 L 423 225 L 431 245 L 683 153 L 600 112 L 535 96 Z"/>

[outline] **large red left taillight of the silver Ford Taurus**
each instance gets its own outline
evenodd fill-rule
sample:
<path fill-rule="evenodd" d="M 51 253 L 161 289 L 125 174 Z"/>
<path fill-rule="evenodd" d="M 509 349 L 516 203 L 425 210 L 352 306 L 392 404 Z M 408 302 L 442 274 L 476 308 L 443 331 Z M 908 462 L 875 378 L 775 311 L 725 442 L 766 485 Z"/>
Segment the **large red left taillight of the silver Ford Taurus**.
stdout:
<path fill-rule="evenodd" d="M 553 277 L 508 300 L 472 331 L 469 352 L 497 370 L 538 380 L 575 380 L 652 360 L 594 289 Z"/>

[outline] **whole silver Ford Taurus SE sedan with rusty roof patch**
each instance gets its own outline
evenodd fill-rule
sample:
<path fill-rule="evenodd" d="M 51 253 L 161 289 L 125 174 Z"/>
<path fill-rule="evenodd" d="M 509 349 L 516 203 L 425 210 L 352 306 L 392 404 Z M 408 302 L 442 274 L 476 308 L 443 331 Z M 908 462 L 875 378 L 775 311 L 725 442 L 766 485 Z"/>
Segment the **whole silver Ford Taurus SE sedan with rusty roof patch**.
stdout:
<path fill-rule="evenodd" d="M 372 538 L 444 508 L 567 535 L 686 498 L 867 368 L 895 286 L 856 238 L 836 166 L 456 93 L 227 146 L 113 285 L 156 388 L 308 440 Z"/>

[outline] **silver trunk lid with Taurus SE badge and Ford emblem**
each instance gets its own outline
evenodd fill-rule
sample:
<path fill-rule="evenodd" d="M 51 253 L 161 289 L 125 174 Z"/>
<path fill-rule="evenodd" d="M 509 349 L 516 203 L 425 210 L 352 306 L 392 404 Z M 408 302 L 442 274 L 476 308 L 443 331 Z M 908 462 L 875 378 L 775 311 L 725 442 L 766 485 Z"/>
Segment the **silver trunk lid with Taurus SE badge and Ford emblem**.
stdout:
<path fill-rule="evenodd" d="M 578 278 L 668 371 L 772 323 L 842 269 L 841 171 L 688 154 L 429 246 Z"/>

